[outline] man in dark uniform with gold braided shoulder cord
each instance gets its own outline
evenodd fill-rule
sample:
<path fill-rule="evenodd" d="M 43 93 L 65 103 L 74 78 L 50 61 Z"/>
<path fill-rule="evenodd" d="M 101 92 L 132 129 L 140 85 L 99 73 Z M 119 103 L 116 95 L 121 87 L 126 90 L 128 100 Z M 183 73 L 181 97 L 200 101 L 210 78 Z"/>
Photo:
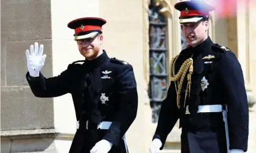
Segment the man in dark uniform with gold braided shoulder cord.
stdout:
<path fill-rule="evenodd" d="M 181 12 L 189 47 L 171 60 L 171 83 L 149 151 L 163 149 L 179 119 L 182 153 L 246 152 L 249 109 L 243 72 L 235 54 L 208 36 L 214 7 L 184 1 L 175 9 Z"/>

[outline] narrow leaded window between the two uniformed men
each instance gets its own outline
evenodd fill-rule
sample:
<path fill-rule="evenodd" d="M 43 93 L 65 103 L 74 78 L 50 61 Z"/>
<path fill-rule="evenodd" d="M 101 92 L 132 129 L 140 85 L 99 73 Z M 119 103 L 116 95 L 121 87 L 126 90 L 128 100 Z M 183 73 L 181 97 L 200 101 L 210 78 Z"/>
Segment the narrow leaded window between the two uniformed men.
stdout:
<path fill-rule="evenodd" d="M 167 23 L 159 7 L 150 2 L 149 19 L 149 99 L 152 123 L 157 123 L 162 101 L 167 96 Z"/>

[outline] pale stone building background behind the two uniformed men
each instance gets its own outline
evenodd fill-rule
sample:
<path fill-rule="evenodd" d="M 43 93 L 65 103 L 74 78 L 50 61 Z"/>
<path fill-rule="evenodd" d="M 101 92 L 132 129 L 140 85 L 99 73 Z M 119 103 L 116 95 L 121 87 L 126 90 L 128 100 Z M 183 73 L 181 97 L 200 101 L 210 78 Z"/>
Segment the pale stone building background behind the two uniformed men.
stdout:
<path fill-rule="evenodd" d="M 42 73 L 57 76 L 83 60 L 67 23 L 95 16 L 107 20 L 104 49 L 134 66 L 139 106 L 127 132 L 130 153 L 146 153 L 169 86 L 172 57 L 186 48 L 179 24 L 178 0 L 1 0 L 1 152 L 68 152 L 76 130 L 70 94 L 36 98 L 25 74 L 26 49 L 44 44 Z M 256 150 L 256 3 L 211 0 L 209 36 L 235 52 L 243 68 L 249 101 L 249 153 Z M 180 152 L 178 123 L 163 153 Z"/>

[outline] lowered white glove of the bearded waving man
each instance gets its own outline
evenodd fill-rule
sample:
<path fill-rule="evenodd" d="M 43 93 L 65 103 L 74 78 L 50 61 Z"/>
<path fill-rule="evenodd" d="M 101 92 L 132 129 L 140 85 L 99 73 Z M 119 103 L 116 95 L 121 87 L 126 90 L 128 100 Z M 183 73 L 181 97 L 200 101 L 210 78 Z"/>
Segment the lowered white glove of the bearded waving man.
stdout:
<path fill-rule="evenodd" d="M 108 151 L 110 151 L 112 146 L 113 146 L 113 144 L 110 143 L 110 141 L 100 140 L 91 149 L 90 153 L 107 153 Z"/>

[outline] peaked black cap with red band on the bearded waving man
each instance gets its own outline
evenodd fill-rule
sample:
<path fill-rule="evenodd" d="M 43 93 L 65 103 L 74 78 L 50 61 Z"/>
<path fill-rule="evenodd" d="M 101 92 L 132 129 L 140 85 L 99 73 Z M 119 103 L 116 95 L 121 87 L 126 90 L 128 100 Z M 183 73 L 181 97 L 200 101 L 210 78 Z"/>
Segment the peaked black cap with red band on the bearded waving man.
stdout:
<path fill-rule="evenodd" d="M 86 38 L 96 37 L 99 33 L 102 33 L 102 26 L 107 23 L 102 18 L 78 18 L 70 21 L 67 27 L 75 30 L 75 40 L 81 40 Z"/>

